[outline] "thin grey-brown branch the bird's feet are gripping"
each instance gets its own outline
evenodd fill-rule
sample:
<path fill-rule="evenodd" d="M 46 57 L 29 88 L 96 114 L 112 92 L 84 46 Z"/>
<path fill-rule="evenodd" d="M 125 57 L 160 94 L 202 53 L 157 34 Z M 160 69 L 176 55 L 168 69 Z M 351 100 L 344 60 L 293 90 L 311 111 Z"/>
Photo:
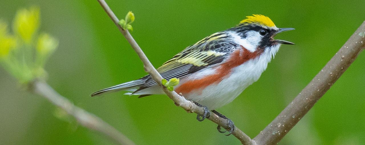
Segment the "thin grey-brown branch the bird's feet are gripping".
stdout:
<path fill-rule="evenodd" d="M 110 9 L 108 4 L 104 0 L 98 0 L 101 7 L 104 8 L 105 12 L 109 15 L 109 17 L 114 21 L 115 25 L 119 28 L 119 31 L 122 32 L 123 36 L 127 39 L 127 41 L 130 43 L 132 48 L 135 52 L 137 52 L 139 58 L 143 62 L 143 67 L 145 68 L 145 71 L 151 75 L 153 80 L 158 83 L 158 85 L 164 90 L 166 95 L 170 99 L 172 99 L 177 106 L 182 107 L 189 113 L 196 113 L 199 115 L 204 114 L 204 109 L 202 107 L 199 107 L 195 105 L 195 103 L 186 100 L 183 96 L 178 95 L 175 91 L 169 91 L 161 84 L 162 77 L 157 72 L 157 70 L 153 67 L 151 62 L 148 60 L 147 56 L 143 53 L 142 49 L 138 46 L 137 42 L 133 39 L 131 34 L 128 32 L 128 30 L 124 30 L 122 27 L 120 27 L 119 19 L 115 16 L 113 11 Z M 222 126 L 224 129 L 229 130 L 228 121 L 224 118 L 220 118 L 218 115 L 211 113 L 210 117 L 207 119 L 211 120 L 212 122 L 218 124 L 219 126 Z M 242 144 L 245 145 L 253 145 L 255 142 L 251 140 L 249 136 L 247 136 L 245 133 L 243 133 L 240 129 L 238 129 L 236 126 L 232 132 L 232 134 L 238 138 L 238 140 L 241 141 Z"/>

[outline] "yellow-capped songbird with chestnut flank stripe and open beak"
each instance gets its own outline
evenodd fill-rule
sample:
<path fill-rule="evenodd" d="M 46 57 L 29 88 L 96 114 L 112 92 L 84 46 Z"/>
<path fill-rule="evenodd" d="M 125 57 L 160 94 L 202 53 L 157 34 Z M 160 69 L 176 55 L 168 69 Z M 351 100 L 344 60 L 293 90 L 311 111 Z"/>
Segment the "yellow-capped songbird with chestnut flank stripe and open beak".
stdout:
<path fill-rule="evenodd" d="M 228 120 L 231 133 L 233 122 L 215 109 L 232 102 L 243 90 L 258 81 L 281 44 L 294 44 L 273 38 L 289 30 L 295 29 L 278 28 L 264 15 L 246 16 L 236 26 L 186 47 L 158 67 L 157 71 L 166 80 L 178 78 L 180 81 L 174 86 L 174 91 L 204 107 L 206 113 L 197 115 L 199 121 L 209 117 L 211 110 Z M 146 75 L 96 91 L 91 96 L 115 91 L 127 91 L 125 94 L 139 95 L 139 98 L 164 94 L 150 75 Z M 224 133 L 220 131 L 220 126 L 218 131 Z"/>

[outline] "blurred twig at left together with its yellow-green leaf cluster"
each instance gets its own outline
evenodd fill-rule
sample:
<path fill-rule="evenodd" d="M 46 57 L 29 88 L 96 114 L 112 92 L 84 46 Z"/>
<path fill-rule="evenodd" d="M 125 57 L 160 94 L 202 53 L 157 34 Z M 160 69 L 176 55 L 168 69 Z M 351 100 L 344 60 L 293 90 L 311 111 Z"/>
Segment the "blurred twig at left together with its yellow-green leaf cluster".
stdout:
<path fill-rule="evenodd" d="M 19 9 L 13 22 L 13 34 L 8 24 L 0 21 L 0 64 L 21 84 L 47 98 L 51 103 L 72 115 L 83 126 L 96 130 L 123 145 L 134 145 L 126 136 L 94 114 L 73 105 L 46 82 L 44 65 L 58 46 L 58 40 L 47 33 L 38 33 L 40 10 L 37 7 Z"/>

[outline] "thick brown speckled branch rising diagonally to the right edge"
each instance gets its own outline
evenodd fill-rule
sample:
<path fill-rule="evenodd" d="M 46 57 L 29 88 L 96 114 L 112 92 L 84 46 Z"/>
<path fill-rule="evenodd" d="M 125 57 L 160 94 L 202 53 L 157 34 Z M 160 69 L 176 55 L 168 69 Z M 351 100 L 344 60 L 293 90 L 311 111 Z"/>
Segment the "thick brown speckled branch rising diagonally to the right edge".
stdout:
<path fill-rule="evenodd" d="M 276 144 L 303 118 L 364 50 L 362 34 L 365 34 L 365 21 L 299 95 L 254 138 L 257 144 Z"/>

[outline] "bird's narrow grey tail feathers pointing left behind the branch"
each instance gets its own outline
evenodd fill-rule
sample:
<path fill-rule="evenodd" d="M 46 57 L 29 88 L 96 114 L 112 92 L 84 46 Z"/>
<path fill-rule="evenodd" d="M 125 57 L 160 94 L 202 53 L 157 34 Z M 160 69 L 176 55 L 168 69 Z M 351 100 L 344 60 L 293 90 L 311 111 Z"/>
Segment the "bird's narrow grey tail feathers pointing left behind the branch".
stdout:
<path fill-rule="evenodd" d="M 112 92 L 116 92 L 116 91 L 133 89 L 133 87 L 138 87 L 138 86 L 141 86 L 143 84 L 145 84 L 145 80 L 137 79 L 135 81 L 122 83 L 122 84 L 119 84 L 119 85 L 116 85 L 116 86 L 112 86 L 112 87 L 108 87 L 108 88 L 103 89 L 103 90 L 96 91 L 96 92 L 91 94 L 91 97 L 101 95 L 101 94 L 105 94 L 105 93 L 112 93 Z"/>

